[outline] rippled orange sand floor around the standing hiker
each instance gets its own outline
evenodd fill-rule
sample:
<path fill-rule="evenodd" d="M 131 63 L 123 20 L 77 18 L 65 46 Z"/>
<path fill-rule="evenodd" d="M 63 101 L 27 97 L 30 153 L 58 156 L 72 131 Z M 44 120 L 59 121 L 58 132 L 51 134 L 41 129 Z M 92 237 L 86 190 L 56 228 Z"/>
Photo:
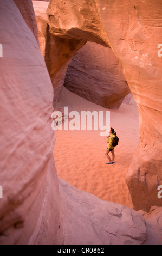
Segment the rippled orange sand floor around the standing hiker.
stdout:
<path fill-rule="evenodd" d="M 63 88 L 57 106 L 70 111 L 109 111 Z M 100 131 L 56 131 L 54 159 L 57 174 L 74 187 L 115 203 L 132 206 L 125 176 L 139 141 L 139 116 L 134 100 L 111 109 L 119 145 L 115 148 L 115 163 L 107 165 L 107 138 Z M 111 153 L 110 153 L 111 154 Z"/>

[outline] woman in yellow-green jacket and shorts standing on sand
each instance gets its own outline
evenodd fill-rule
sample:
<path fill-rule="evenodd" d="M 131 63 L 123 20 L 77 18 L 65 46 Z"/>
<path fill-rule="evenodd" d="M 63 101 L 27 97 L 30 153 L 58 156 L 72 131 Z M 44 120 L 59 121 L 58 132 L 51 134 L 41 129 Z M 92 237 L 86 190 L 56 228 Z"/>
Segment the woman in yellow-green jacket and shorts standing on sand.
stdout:
<path fill-rule="evenodd" d="M 109 131 L 109 136 L 107 137 L 108 142 L 107 142 L 107 149 L 106 149 L 105 155 L 108 158 L 109 162 L 107 162 L 106 164 L 114 163 L 114 159 L 115 159 L 114 148 L 115 147 L 113 147 L 113 142 L 114 142 L 115 136 L 116 136 L 116 132 L 114 131 L 113 128 L 111 128 L 110 131 Z M 109 152 L 112 153 L 112 160 L 111 160 L 111 157 L 108 155 Z"/>

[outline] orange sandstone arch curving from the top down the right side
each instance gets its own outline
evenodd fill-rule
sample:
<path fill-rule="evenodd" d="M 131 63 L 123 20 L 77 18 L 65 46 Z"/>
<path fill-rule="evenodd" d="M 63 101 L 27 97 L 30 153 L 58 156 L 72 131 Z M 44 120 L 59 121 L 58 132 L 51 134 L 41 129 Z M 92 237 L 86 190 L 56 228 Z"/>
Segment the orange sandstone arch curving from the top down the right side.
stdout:
<path fill-rule="evenodd" d="M 51 34 L 98 42 L 118 58 L 140 117 L 140 142 L 126 177 L 129 192 L 136 210 L 161 206 L 161 1 L 51 0 L 47 14 Z"/>

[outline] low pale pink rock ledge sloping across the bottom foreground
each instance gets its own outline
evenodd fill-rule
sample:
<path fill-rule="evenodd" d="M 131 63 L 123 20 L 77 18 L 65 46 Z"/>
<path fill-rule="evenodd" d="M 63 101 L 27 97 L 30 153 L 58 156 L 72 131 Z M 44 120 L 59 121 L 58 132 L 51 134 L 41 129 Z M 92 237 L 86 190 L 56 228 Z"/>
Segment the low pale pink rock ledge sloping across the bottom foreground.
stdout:
<path fill-rule="evenodd" d="M 142 245 L 145 220 L 124 205 L 102 201 L 59 178 L 66 245 Z"/>

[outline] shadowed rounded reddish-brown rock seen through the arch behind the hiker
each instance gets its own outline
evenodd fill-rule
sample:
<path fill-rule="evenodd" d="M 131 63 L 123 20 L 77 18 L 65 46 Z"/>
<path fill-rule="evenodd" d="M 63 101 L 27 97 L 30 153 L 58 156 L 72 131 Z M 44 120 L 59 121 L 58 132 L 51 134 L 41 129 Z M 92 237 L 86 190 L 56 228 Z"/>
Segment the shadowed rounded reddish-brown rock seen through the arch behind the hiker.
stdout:
<path fill-rule="evenodd" d="M 109 47 L 87 42 L 68 66 L 64 86 L 98 105 L 118 109 L 130 89 Z"/>

